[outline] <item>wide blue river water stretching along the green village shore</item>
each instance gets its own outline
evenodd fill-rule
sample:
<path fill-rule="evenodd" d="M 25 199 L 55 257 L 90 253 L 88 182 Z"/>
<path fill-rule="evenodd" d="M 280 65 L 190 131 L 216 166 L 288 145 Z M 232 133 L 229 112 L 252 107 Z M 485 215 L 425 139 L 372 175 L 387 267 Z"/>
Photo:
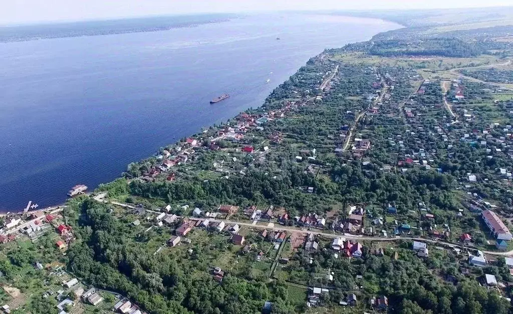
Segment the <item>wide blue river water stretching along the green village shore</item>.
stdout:
<path fill-rule="evenodd" d="M 159 147 L 260 106 L 323 49 L 398 27 L 261 15 L 0 44 L 0 210 L 55 205 L 75 184 L 109 182 Z M 209 104 L 224 92 L 230 99 Z"/>

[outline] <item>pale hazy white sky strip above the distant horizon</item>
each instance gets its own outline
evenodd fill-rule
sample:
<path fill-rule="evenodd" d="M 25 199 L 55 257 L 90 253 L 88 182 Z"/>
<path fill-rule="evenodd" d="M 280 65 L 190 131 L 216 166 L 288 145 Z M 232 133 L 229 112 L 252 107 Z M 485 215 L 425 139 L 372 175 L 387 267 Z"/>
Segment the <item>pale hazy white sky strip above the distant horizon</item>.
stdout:
<path fill-rule="evenodd" d="M 511 0 L 0 0 L 0 24 L 267 10 L 372 10 L 507 6 Z"/>

